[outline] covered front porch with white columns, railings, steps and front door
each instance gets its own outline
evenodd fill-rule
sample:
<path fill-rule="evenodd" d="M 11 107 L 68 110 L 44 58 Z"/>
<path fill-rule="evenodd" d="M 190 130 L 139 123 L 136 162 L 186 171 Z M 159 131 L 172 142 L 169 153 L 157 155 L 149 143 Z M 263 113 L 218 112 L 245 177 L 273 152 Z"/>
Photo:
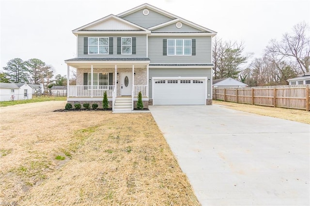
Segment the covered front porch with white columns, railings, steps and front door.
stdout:
<path fill-rule="evenodd" d="M 69 81 L 67 82 L 67 102 L 71 104 L 97 103 L 100 108 L 106 91 L 109 108 L 113 111 L 120 109 L 115 103 L 118 98 L 124 96 L 130 98 L 131 101 L 130 108 L 128 104 L 125 109 L 134 110 L 139 92 L 141 92 L 144 108 L 148 108 L 149 60 L 140 59 L 142 60 L 137 61 L 136 58 L 136 61 L 125 59 L 117 62 L 107 59 L 104 61 L 88 59 L 87 62 L 80 58 L 66 60 L 68 76 L 70 66 L 77 69 L 77 85 L 69 85 Z"/>

